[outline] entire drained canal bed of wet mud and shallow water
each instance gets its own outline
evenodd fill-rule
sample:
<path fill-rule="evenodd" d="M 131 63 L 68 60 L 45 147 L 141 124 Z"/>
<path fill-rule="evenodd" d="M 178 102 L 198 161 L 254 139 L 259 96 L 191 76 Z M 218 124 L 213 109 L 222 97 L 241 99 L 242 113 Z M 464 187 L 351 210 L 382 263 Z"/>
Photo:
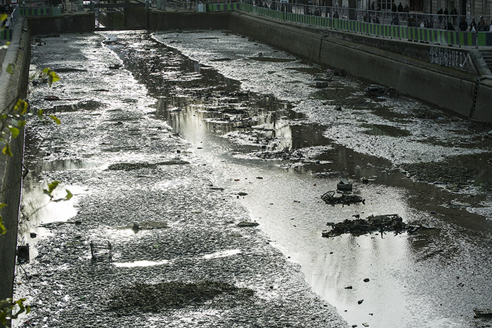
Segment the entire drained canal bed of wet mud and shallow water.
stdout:
<path fill-rule="evenodd" d="M 472 311 L 492 302 L 487 126 L 229 32 L 67 34 L 33 53 L 62 80 L 32 86 L 30 104 L 62 124 L 27 131 L 32 261 L 17 293 L 31 322 L 490 324 Z M 365 202 L 325 204 L 340 179 Z M 39 185 L 52 180 L 75 197 L 50 202 Z M 322 237 L 328 222 L 382 214 L 432 229 Z M 113 261 L 93 261 L 89 241 L 103 258 L 110 242 Z M 176 282 L 214 297 L 130 301 Z"/>

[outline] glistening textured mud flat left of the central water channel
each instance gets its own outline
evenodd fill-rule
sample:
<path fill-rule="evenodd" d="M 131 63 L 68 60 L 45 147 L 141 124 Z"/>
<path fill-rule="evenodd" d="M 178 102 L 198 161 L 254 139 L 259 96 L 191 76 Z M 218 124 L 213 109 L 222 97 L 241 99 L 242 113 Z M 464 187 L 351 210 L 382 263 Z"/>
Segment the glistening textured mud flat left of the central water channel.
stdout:
<path fill-rule="evenodd" d="M 250 217 L 237 196 L 155 119 L 155 99 L 114 69 L 103 39 L 33 48 L 34 65 L 65 73 L 30 88 L 30 104 L 62 124 L 27 131 L 19 242 L 31 261 L 15 294 L 32 312 L 18 327 L 344 327 L 264 233 L 238 226 Z M 55 180 L 50 201 L 41 188 Z M 65 189 L 74 197 L 58 201 Z"/>

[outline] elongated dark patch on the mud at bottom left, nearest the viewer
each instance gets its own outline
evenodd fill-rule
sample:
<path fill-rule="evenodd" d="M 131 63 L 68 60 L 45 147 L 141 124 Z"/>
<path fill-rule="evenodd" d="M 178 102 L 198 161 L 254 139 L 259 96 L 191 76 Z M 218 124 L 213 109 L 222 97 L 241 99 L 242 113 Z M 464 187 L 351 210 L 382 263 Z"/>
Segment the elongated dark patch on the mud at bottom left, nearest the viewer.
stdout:
<path fill-rule="evenodd" d="M 137 282 L 115 292 L 110 297 L 109 308 L 121 314 L 159 313 L 169 308 L 198 306 L 220 296 L 228 301 L 244 302 L 254 291 L 238 288 L 226 282 L 160 282 L 145 284 Z"/>

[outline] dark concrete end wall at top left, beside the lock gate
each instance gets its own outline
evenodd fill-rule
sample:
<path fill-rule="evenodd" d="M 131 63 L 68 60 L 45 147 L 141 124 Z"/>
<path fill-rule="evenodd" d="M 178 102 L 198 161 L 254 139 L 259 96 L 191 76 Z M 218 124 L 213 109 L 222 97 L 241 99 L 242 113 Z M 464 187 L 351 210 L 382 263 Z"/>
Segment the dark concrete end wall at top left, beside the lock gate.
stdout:
<path fill-rule="evenodd" d="M 56 17 L 29 18 L 32 34 L 91 32 L 94 30 L 94 13 L 70 13 Z"/>

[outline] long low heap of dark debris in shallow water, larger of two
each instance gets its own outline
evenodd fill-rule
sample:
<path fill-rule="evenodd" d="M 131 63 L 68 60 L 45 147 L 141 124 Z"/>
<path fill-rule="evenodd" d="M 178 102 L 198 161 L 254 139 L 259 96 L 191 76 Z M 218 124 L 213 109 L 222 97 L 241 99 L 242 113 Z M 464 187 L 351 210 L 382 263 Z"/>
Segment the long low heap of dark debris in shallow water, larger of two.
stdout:
<path fill-rule="evenodd" d="M 420 224 L 408 224 L 403 222 L 403 218 L 398 214 L 387 214 L 369 216 L 367 219 L 358 218 L 356 220 L 345 220 L 339 223 L 328 222 L 326 225 L 330 225 L 332 230 L 324 231 L 321 233 L 323 237 L 337 237 L 344 233 L 349 233 L 354 236 L 365 235 L 371 232 L 385 232 L 391 231 L 395 235 L 403 232 L 415 233 L 420 229 L 432 229 L 431 226 Z M 364 280 L 365 281 L 365 280 Z"/>

